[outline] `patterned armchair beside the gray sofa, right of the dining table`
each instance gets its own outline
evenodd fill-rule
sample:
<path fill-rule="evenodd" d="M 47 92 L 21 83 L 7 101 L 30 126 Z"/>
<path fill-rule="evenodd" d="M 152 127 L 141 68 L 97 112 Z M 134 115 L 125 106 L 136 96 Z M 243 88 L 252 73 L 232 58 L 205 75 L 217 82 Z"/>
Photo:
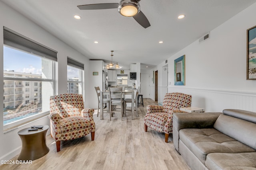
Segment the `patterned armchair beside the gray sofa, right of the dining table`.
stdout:
<path fill-rule="evenodd" d="M 144 130 L 148 127 L 154 131 L 165 133 L 165 142 L 168 143 L 169 133 L 172 133 L 172 114 L 182 107 L 191 107 L 192 96 L 183 93 L 167 93 L 164 96 L 163 106 L 147 106 L 144 117 Z M 184 112 L 186 113 L 186 112 Z"/>

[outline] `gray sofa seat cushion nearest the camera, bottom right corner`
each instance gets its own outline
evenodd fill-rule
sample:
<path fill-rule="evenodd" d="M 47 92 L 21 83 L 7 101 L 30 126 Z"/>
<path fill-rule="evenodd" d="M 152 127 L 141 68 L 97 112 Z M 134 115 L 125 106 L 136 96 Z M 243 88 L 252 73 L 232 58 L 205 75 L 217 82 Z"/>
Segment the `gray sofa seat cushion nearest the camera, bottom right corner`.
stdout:
<path fill-rule="evenodd" d="M 205 165 L 210 170 L 256 170 L 256 152 L 210 153 Z"/>

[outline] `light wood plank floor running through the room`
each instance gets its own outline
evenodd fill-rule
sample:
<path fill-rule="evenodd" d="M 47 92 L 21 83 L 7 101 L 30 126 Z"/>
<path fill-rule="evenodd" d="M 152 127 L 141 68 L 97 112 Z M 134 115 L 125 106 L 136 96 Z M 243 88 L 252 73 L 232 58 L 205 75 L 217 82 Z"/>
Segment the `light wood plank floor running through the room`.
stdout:
<path fill-rule="evenodd" d="M 144 107 L 138 107 L 139 117 L 131 118 L 127 111 L 123 121 L 115 114 L 111 121 L 104 112 L 104 120 L 97 117 L 95 139 L 90 135 L 72 141 L 62 141 L 60 152 L 48 135 L 48 154 L 33 160 L 32 164 L 2 165 L 1 170 L 189 170 L 190 168 L 174 149 L 172 135 L 164 142 L 164 133 L 148 128 L 144 132 L 146 106 L 157 103 L 144 99 Z M 12 160 L 16 162 L 18 155 Z"/>

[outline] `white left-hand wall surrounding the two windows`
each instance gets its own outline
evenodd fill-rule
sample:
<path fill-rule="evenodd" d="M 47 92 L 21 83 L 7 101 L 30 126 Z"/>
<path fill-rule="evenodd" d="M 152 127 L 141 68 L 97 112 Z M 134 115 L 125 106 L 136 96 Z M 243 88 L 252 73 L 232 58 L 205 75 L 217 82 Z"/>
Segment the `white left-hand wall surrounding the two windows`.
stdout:
<path fill-rule="evenodd" d="M 32 21 L 15 12 L 2 2 L 0 2 L 0 63 L 3 63 L 3 26 L 8 27 L 34 41 L 37 41 L 51 49 L 58 51 L 58 64 L 56 71 L 56 94 L 67 92 L 67 56 L 85 64 L 85 77 L 87 80 L 88 73 L 88 58 L 78 53 L 67 44 L 63 43 Z M 3 64 L 0 64 L 0 80 L 3 80 Z M 88 86 L 88 81 L 85 81 L 85 87 Z M 3 83 L 0 83 L 0 88 L 3 89 Z M 90 96 L 86 96 L 87 89 L 85 88 L 85 101 L 90 100 Z M 3 90 L 0 90 L 0 96 L 3 96 Z M 3 104 L 0 104 L 0 110 L 3 110 Z M 44 117 L 33 123 L 29 123 L 22 127 L 18 127 L 8 133 L 3 133 L 3 116 L 0 116 L 0 160 L 9 160 L 20 153 L 21 140 L 18 136 L 20 129 L 30 127 L 32 125 L 49 125 L 49 118 Z"/>

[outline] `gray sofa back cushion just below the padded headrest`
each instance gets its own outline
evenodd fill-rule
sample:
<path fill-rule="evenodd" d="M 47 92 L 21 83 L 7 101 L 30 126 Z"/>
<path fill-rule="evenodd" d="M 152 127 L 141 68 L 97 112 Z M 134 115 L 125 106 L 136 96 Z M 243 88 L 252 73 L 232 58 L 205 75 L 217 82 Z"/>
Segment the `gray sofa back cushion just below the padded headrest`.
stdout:
<path fill-rule="evenodd" d="M 229 137 L 256 149 L 255 123 L 222 114 L 218 117 L 213 127 Z"/>

